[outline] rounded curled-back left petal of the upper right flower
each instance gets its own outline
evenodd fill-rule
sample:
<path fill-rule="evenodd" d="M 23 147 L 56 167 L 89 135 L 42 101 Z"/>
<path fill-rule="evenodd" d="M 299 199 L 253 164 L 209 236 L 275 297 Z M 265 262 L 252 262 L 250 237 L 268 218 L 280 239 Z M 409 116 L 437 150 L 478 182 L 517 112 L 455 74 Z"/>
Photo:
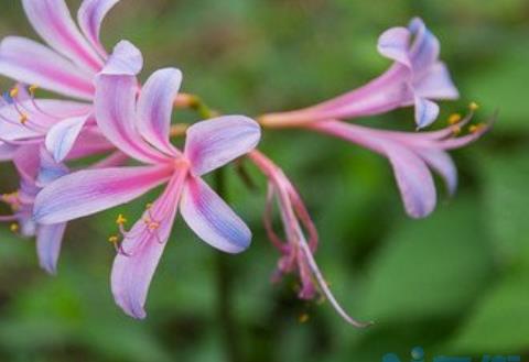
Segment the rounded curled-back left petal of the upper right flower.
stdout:
<path fill-rule="evenodd" d="M 410 31 L 406 28 L 387 30 L 378 39 L 378 52 L 387 58 L 411 68 L 409 58 Z"/>

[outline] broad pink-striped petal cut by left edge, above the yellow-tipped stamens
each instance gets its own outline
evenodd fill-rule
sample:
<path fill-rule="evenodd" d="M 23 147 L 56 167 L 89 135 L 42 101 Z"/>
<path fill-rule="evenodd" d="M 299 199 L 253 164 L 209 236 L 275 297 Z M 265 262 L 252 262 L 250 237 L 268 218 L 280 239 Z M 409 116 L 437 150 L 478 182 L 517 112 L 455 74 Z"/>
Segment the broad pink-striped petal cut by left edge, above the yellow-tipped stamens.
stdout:
<path fill-rule="evenodd" d="M 90 100 L 94 97 L 89 73 L 25 37 L 9 36 L 2 41 L 0 74 L 73 98 Z"/>

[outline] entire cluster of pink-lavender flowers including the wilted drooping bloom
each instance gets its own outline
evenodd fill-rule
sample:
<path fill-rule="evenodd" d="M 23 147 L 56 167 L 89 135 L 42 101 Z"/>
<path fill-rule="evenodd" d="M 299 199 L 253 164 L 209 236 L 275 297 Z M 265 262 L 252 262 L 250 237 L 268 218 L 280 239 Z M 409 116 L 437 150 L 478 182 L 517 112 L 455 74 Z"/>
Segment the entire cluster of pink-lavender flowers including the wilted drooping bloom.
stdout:
<path fill-rule="evenodd" d="M 0 44 L 0 74 L 14 81 L 0 100 L 0 161 L 12 162 L 20 177 L 19 189 L 0 198 L 12 210 L 0 221 L 35 237 L 41 266 L 53 274 L 68 221 L 164 185 L 131 227 L 119 215 L 119 232 L 109 238 L 116 246 L 115 300 L 126 314 L 144 318 L 149 285 L 179 213 L 201 240 L 223 252 L 239 253 L 250 245 L 249 228 L 203 179 L 246 157 L 268 179 L 264 228 L 281 254 L 276 278 L 295 273 L 301 298 L 322 295 L 352 325 L 368 325 L 350 318 L 336 301 L 315 262 L 319 237 L 307 208 L 282 169 L 256 146 L 262 127 L 314 131 L 369 149 L 389 160 L 407 212 L 428 216 L 436 202 L 431 172 L 453 194 L 457 175 L 446 151 L 489 129 L 472 124 L 464 130 L 476 106 L 467 117 L 454 114 L 445 129 L 429 132 L 377 130 L 346 120 L 414 106 L 418 130 L 433 123 L 439 116 L 434 101 L 458 97 L 439 59 L 438 39 L 419 19 L 390 29 L 378 50 L 395 63 L 380 77 L 317 106 L 252 120 L 215 114 L 196 96 L 180 94 L 176 68 L 156 70 L 141 83 L 142 54 L 128 41 L 107 53 L 100 28 L 118 2 L 84 0 L 76 23 L 64 0 L 22 0 L 46 45 L 17 36 Z M 61 98 L 40 98 L 39 88 Z M 195 109 L 205 120 L 172 124 L 175 108 Z M 181 150 L 172 139 L 184 134 Z M 283 237 L 272 227 L 276 201 Z"/>

